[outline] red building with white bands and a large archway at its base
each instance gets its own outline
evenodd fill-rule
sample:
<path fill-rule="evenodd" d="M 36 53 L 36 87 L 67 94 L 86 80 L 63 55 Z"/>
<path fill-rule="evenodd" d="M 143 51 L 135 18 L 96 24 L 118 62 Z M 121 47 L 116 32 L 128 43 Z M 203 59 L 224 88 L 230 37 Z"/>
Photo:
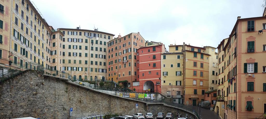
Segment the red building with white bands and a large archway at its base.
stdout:
<path fill-rule="evenodd" d="M 163 43 L 140 47 L 137 52 L 137 81 L 133 88 L 138 92 L 161 92 L 161 54 L 165 52 Z"/>

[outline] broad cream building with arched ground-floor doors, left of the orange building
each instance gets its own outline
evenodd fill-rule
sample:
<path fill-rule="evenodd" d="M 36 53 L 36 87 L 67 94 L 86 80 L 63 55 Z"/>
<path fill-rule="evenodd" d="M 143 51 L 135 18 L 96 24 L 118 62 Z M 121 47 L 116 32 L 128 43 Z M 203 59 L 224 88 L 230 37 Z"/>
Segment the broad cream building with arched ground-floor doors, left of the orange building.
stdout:
<path fill-rule="evenodd" d="M 98 29 L 58 28 L 62 42 L 62 70 L 81 80 L 106 80 L 107 42 L 113 34 Z"/>

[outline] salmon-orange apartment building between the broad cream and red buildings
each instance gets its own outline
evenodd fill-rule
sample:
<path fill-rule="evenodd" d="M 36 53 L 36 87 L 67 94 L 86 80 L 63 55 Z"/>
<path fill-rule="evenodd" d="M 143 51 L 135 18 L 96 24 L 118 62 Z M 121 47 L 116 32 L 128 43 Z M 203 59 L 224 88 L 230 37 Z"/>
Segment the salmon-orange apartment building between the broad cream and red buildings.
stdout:
<path fill-rule="evenodd" d="M 122 82 L 120 85 L 133 90 L 132 85 L 139 86 L 137 81 L 137 49 L 145 44 L 138 33 L 130 33 L 107 43 L 107 80 Z M 135 82 L 132 84 L 132 82 Z"/>

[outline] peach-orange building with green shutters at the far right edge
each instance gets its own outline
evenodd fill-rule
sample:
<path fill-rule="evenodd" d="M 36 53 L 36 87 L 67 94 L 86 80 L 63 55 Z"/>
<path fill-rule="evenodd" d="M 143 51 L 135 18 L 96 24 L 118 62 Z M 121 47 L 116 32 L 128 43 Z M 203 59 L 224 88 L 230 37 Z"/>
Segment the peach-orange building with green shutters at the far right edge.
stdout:
<path fill-rule="evenodd" d="M 238 17 L 228 41 L 218 46 L 221 61 L 225 57 L 221 66 L 226 64 L 225 73 L 218 80 L 223 77 L 224 84 L 228 84 L 219 86 L 218 83 L 218 95 L 222 95 L 219 90 L 223 92 L 223 88 L 228 93 L 225 102 L 220 102 L 225 105 L 225 113 L 221 113 L 221 104 L 215 107 L 222 118 L 262 118 L 266 112 L 266 41 L 262 33 L 266 31 L 265 23 L 266 17 Z M 218 70 L 222 72 L 221 66 Z"/>

